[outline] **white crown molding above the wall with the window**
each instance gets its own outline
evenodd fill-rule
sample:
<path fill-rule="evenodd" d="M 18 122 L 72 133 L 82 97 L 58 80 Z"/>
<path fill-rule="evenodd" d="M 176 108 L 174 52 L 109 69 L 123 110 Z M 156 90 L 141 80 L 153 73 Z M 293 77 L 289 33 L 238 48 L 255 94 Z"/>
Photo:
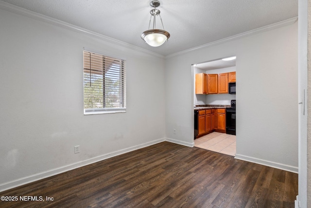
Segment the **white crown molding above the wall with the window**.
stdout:
<path fill-rule="evenodd" d="M 74 31 L 74 32 L 77 32 L 77 33 L 81 33 L 81 34 L 84 34 L 84 35 L 87 35 L 87 36 L 90 36 L 90 37 L 93 37 L 93 38 L 99 38 L 101 40 L 104 40 L 104 41 L 107 41 L 107 42 L 110 42 L 110 43 L 114 43 L 114 44 L 126 47 L 128 49 L 132 49 L 132 50 L 144 53 L 144 54 L 148 54 L 148 55 L 151 55 L 153 57 L 159 57 L 159 58 L 164 58 L 165 57 L 163 55 L 157 54 L 157 53 L 152 52 L 152 51 L 148 51 L 146 49 L 140 48 L 138 46 L 135 46 L 135 45 L 132 45 L 132 44 L 129 44 L 129 43 L 126 43 L 126 42 L 123 42 L 121 40 L 110 38 L 110 37 L 101 35 L 99 33 L 95 33 L 93 31 L 84 29 L 82 27 L 78 27 L 76 25 L 69 24 L 67 22 L 64 22 L 64 21 L 61 21 L 61 20 L 58 20 L 58 19 L 53 19 L 53 18 L 47 17 L 45 15 L 41 15 L 39 13 L 30 11 L 28 9 L 21 8 L 19 6 L 16 6 L 16 5 L 13 5 L 13 4 L 1 1 L 1 0 L 0 0 L 0 9 L 6 10 L 6 11 L 10 11 L 10 12 L 13 12 L 15 14 L 22 15 L 24 17 L 28 17 L 28 18 L 36 19 L 36 20 L 39 20 L 39 21 L 42 21 L 42 22 L 46 22 L 46 23 L 49 23 L 49 24 L 52 24 L 52 25 L 55 25 L 55 26 L 58 26 L 58 27 L 62 27 L 62 28 L 65 28 L 65 29 L 68 29 L 68 30 L 71 30 L 71 31 Z"/>

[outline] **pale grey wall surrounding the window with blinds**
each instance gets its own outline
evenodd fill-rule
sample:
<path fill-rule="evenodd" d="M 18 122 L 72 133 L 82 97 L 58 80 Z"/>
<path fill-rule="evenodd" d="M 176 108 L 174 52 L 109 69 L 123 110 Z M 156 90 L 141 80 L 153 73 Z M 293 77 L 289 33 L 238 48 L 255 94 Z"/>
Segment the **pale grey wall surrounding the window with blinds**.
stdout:
<path fill-rule="evenodd" d="M 164 140 L 163 57 L 4 9 L 0 28 L 0 191 Z M 83 115 L 83 47 L 127 60 L 126 113 Z"/>

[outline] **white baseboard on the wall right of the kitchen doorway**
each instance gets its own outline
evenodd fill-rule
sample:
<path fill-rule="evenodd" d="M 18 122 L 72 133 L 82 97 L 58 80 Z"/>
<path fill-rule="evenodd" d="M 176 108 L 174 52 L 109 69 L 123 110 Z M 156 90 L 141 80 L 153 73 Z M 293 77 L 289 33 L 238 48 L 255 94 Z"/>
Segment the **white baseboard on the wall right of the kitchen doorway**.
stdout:
<path fill-rule="evenodd" d="M 262 159 L 259 159 L 259 158 L 249 157 L 249 156 L 245 156 L 245 155 L 242 155 L 242 154 L 236 154 L 235 158 L 239 159 L 239 160 L 244 160 L 244 161 L 252 162 L 252 163 L 257 163 L 257 164 L 264 165 L 264 166 L 269 166 L 269 167 L 272 167 L 272 168 L 277 168 L 277 169 L 280 169 L 280 170 L 286 170 L 286 171 L 298 173 L 298 167 L 294 167 L 294 166 L 289 166 L 289 165 L 285 165 L 285 164 L 281 164 L 281 163 L 276 163 L 276 162 L 272 162 L 272 161 L 268 161 L 268 160 L 262 160 Z"/>

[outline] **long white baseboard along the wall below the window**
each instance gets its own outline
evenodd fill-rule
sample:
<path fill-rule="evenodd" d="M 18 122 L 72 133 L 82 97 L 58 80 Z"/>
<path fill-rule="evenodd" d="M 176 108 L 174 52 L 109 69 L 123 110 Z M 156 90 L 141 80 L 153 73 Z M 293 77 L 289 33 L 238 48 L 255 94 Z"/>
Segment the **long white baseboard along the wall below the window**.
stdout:
<path fill-rule="evenodd" d="M 80 162 L 77 162 L 77 163 L 73 163 L 73 164 L 70 164 L 70 165 L 67 165 L 67 166 L 59 167 L 59 168 L 48 170 L 48 171 L 44 171 L 44 172 L 39 172 L 37 174 L 33 174 L 33 175 L 30 175 L 30 176 L 19 178 L 19 179 L 14 180 L 14 181 L 3 183 L 3 184 L 0 184 L 0 192 L 8 190 L 8 189 L 13 189 L 15 187 L 18 187 L 18 186 L 21 186 L 21 185 L 24 185 L 24 184 L 28 184 L 28 183 L 31 183 L 31 182 L 34 182 L 34 181 L 38 181 L 38 180 L 41 180 L 43 178 L 47 178 L 47 177 L 50 177 L 50 176 L 53 176 L 53 175 L 57 175 L 57 174 L 60 174 L 62 172 L 66 172 L 66 171 L 69 171 L 69 170 L 81 168 L 83 166 L 86 166 L 86 165 L 89 165 L 89 164 L 92 164 L 92 163 L 96 163 L 96 162 L 108 159 L 110 157 L 114 157 L 114 156 L 117 156 L 117 155 L 120 155 L 120 154 L 124 154 L 124 153 L 129 152 L 129 151 L 134 151 L 134 150 L 138 150 L 138 149 L 141 149 L 141 148 L 144 148 L 144 147 L 148 147 L 148 146 L 151 146 L 151 145 L 163 142 L 163 141 L 166 141 L 166 138 L 157 139 L 157 140 L 154 140 L 154 141 L 151 141 L 151 142 L 147 142 L 147 143 L 144 143 L 144 144 L 136 145 L 136 146 L 133 146 L 133 147 L 130 147 L 130 148 L 125 148 L 125 149 L 119 150 L 119 151 L 109 152 L 107 154 L 103 154 L 103 155 L 100 155 L 100 156 L 97 156 L 97 157 L 93 157 L 93 158 L 90 158 L 90 159 L 87 159 L 87 160 L 84 160 L 84 161 L 80 161 Z"/>

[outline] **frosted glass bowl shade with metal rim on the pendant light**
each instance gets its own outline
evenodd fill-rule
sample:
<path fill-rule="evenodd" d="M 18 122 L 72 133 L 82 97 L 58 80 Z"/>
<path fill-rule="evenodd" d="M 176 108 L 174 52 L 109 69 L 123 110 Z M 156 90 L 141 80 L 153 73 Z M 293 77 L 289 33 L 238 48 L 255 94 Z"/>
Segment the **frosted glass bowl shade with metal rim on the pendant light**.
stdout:
<path fill-rule="evenodd" d="M 157 47 L 167 41 L 170 38 L 170 34 L 165 30 L 153 29 L 143 32 L 141 38 L 145 40 L 148 45 Z"/>

